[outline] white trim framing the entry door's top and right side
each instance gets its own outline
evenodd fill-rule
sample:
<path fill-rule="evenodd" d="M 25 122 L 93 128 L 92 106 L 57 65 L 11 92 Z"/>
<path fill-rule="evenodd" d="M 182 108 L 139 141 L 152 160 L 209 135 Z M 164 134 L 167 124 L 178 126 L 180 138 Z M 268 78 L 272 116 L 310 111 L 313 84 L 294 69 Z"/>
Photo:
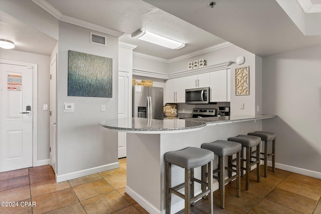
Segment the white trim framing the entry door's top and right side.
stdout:
<path fill-rule="evenodd" d="M 32 63 L 24 63 L 10 60 L 1 60 L 0 63 L 20 66 L 33 67 L 33 166 L 37 165 L 38 152 L 38 65 Z"/>

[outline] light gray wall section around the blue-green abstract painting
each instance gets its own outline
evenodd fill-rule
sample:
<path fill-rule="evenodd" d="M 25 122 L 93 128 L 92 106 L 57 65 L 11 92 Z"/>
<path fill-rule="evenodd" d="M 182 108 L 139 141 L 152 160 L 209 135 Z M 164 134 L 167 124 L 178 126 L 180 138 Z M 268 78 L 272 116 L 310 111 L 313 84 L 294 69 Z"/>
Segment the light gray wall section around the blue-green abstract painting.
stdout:
<path fill-rule="evenodd" d="M 83 176 L 110 164 L 118 164 L 117 132 L 107 132 L 99 121 L 118 117 L 118 38 L 107 36 L 107 47 L 91 44 L 89 29 L 59 23 L 57 173 L 58 181 L 68 173 Z M 96 33 L 96 32 L 94 32 Z M 102 34 L 102 33 L 99 33 Z M 112 98 L 72 97 L 68 93 L 68 50 L 112 58 Z M 64 102 L 74 103 L 74 112 L 64 112 Z M 106 111 L 101 112 L 101 104 Z M 117 165 L 118 167 L 118 165 Z M 114 167 L 115 168 L 115 167 Z"/>

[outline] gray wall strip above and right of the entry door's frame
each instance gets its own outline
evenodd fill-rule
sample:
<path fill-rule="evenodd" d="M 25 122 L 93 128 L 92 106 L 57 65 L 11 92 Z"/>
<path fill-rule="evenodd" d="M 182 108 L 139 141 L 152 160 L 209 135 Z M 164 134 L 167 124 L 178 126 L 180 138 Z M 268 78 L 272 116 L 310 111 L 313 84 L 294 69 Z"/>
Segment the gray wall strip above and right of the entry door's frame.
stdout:
<path fill-rule="evenodd" d="M 43 105 L 50 103 L 50 57 L 1 48 L 0 59 L 38 64 L 37 160 L 49 163 L 49 111 L 44 111 Z"/>

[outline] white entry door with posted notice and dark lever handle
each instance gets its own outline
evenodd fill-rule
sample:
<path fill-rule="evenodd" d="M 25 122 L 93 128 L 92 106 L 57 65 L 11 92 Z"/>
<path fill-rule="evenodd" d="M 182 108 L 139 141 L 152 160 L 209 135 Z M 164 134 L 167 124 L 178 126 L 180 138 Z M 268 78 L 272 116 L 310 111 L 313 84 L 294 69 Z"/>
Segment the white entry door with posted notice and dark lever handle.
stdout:
<path fill-rule="evenodd" d="M 32 164 L 33 68 L 0 63 L 0 172 Z"/>

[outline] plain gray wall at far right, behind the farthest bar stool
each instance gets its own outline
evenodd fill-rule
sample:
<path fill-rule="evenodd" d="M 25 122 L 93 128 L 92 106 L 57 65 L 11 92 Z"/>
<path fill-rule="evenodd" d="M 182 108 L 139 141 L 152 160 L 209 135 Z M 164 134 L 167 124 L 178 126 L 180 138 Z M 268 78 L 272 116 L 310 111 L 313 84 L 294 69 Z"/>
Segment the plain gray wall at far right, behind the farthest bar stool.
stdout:
<path fill-rule="evenodd" d="M 276 162 L 321 178 L 321 46 L 263 58 L 265 131 L 277 133 Z M 286 166 L 284 166 L 286 165 Z M 297 168 L 300 169 L 297 169 Z"/>

